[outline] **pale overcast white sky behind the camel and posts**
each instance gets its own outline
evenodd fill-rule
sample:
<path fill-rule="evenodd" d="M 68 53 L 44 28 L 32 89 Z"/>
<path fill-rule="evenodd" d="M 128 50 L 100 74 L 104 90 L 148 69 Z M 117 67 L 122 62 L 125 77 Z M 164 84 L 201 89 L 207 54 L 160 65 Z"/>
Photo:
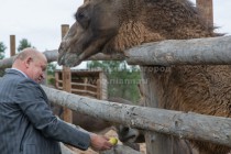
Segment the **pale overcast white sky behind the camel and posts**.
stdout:
<path fill-rule="evenodd" d="M 10 35 L 28 38 L 38 51 L 57 50 L 61 25 L 75 22 L 74 13 L 84 0 L 0 0 L 0 42 L 10 51 Z M 196 0 L 191 0 L 195 2 Z M 231 34 L 231 0 L 213 0 L 215 24 Z"/>

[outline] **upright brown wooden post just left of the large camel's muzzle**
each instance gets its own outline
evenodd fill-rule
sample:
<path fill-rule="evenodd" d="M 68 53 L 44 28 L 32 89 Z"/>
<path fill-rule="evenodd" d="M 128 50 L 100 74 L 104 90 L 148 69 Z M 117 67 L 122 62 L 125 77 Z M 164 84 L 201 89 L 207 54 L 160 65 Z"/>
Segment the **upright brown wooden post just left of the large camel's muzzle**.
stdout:
<path fill-rule="evenodd" d="M 62 38 L 68 32 L 69 25 L 62 24 Z M 72 92 L 72 76 L 70 76 L 70 68 L 63 66 L 63 88 L 67 92 Z M 66 122 L 73 123 L 73 112 L 68 108 L 64 108 L 64 120 Z"/>

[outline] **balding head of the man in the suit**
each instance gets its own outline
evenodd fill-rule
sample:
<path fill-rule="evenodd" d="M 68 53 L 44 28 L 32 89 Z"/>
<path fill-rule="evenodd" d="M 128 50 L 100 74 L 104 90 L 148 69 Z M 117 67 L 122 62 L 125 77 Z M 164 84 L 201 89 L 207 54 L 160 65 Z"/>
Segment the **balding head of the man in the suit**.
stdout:
<path fill-rule="evenodd" d="M 25 48 L 15 56 L 12 68 L 20 69 L 36 82 L 42 82 L 46 65 L 47 59 L 42 53 L 35 48 Z"/>

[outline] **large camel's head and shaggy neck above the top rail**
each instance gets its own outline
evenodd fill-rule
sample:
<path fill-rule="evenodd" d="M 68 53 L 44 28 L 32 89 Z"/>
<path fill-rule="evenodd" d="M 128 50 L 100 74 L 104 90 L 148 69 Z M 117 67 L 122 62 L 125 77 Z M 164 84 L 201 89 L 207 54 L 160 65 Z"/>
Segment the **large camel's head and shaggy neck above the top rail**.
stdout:
<path fill-rule="evenodd" d="M 189 0 L 85 0 L 59 46 L 58 64 L 77 66 L 97 54 L 142 43 L 211 36 Z"/>

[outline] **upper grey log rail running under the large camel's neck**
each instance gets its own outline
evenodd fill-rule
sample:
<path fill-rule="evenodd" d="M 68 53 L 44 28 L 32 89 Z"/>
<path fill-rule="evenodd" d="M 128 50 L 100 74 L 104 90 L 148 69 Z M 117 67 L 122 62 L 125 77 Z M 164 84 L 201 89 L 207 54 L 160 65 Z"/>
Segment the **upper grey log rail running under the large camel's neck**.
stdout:
<path fill-rule="evenodd" d="M 199 65 L 231 64 L 231 36 L 168 40 L 143 44 L 124 52 L 125 55 L 97 54 L 88 61 L 123 61 L 130 65 Z M 57 50 L 44 52 L 48 62 L 57 61 Z M 11 58 L 0 61 L 0 68 L 12 65 Z"/>

